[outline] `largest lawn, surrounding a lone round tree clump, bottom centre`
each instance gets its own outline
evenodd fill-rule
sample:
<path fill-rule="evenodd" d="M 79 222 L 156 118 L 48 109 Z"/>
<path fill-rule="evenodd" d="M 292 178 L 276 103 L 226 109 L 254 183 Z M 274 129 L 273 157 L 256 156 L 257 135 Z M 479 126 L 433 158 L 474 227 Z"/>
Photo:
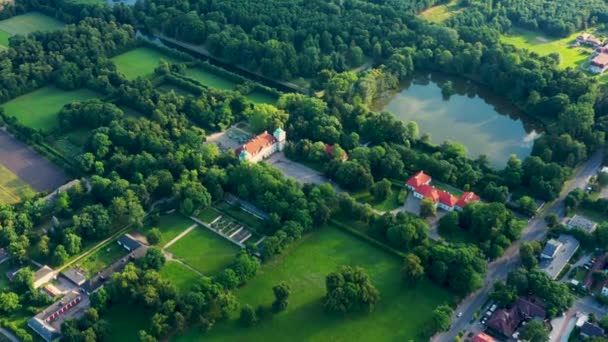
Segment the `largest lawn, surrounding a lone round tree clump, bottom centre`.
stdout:
<path fill-rule="evenodd" d="M 325 277 L 341 265 L 366 269 L 380 291 L 374 312 L 352 316 L 327 314 L 321 298 Z M 422 341 L 420 335 L 433 309 L 454 298 L 425 281 L 408 289 L 400 278 L 401 261 L 366 242 L 326 226 L 304 237 L 282 257 L 260 269 L 235 294 L 241 304 L 270 305 L 272 287 L 284 281 L 291 287 L 284 312 L 252 328 L 235 321 L 216 325 L 207 335 L 192 330 L 176 341 Z"/>

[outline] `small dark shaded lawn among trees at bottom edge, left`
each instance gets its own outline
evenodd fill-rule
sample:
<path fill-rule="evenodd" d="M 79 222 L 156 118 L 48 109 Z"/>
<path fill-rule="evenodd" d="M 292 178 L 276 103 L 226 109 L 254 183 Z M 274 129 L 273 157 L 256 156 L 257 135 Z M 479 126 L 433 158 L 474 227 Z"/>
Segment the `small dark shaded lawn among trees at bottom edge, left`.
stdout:
<path fill-rule="evenodd" d="M 112 342 L 139 341 L 139 331 L 148 329 L 152 313 L 127 302 L 111 307 L 103 316 L 108 321 L 109 333 L 104 340 Z"/>

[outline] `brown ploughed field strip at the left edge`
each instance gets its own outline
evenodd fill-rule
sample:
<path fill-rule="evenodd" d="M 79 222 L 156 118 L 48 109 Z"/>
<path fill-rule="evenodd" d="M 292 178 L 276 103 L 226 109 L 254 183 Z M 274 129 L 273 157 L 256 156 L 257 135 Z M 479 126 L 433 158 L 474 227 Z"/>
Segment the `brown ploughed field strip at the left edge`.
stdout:
<path fill-rule="evenodd" d="M 59 167 L 3 130 L 0 130 L 0 164 L 36 191 L 55 190 L 68 180 Z"/>

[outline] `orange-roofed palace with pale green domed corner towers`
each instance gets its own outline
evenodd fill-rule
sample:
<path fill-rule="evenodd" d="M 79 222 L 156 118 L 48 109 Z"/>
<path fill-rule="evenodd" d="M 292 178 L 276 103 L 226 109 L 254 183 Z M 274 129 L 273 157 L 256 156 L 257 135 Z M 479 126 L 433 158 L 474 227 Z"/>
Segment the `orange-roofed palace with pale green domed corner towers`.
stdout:
<path fill-rule="evenodd" d="M 264 133 L 249 140 L 245 145 L 237 148 L 234 152 L 240 161 L 246 160 L 257 163 L 270 157 L 277 151 L 283 151 L 287 135 L 284 130 L 277 128 L 274 133 L 264 131 Z"/>

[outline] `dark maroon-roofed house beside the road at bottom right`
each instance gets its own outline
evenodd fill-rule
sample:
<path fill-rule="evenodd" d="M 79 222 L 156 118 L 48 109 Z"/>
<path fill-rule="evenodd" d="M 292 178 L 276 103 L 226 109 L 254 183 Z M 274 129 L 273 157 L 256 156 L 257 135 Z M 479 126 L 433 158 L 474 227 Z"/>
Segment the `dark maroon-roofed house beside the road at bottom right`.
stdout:
<path fill-rule="evenodd" d="M 526 298 L 518 298 L 510 309 L 498 309 L 488 319 L 488 329 L 507 338 L 519 329 L 523 322 L 545 319 L 547 312 L 540 303 Z"/>

